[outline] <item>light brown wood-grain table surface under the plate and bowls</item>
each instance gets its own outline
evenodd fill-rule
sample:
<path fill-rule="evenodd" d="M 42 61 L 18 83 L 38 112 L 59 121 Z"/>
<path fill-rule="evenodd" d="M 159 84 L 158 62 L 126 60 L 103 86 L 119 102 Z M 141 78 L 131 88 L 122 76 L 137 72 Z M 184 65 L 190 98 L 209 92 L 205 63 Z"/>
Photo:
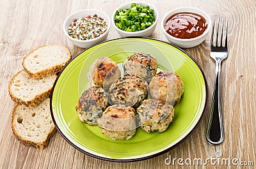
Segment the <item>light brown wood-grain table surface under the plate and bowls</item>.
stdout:
<path fill-rule="evenodd" d="M 173 8 L 194 6 L 205 10 L 211 17 L 220 15 L 229 18 L 228 58 L 223 61 L 221 74 L 221 99 L 225 140 L 212 146 L 205 140 L 205 130 L 214 86 L 215 62 L 209 57 L 210 35 L 197 47 L 184 49 L 202 67 L 209 89 L 205 116 L 198 129 L 185 142 L 170 152 L 156 158 L 132 163 L 114 163 L 95 159 L 77 151 L 56 133 L 49 145 L 40 150 L 26 147 L 12 133 L 11 119 L 15 103 L 8 95 L 8 82 L 22 70 L 22 58 L 31 50 L 46 44 L 63 44 L 76 56 L 83 48 L 75 47 L 63 34 L 65 17 L 84 8 L 105 11 L 109 16 L 113 10 L 126 3 L 114 0 L 1 0 L 0 3 L 0 168 L 256 168 L 256 1 L 255 0 L 152 0 L 148 1 L 159 10 L 159 19 Z M 150 36 L 167 41 L 160 24 Z M 120 38 L 111 27 L 108 40 Z M 221 158 L 234 159 L 244 166 L 230 164 L 166 165 L 172 158 Z M 236 161 L 237 159 L 237 161 Z M 237 163 L 238 164 L 238 163 Z M 247 165 L 247 166 L 246 166 Z M 250 166 L 248 166 L 250 165 Z"/>

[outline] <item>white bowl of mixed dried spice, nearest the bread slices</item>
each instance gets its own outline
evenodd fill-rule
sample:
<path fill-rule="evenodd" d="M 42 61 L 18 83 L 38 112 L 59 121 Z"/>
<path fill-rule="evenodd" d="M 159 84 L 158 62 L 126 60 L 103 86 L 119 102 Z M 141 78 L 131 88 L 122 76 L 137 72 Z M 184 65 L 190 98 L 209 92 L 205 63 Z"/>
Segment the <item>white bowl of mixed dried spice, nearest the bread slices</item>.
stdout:
<path fill-rule="evenodd" d="M 69 15 L 63 22 L 63 31 L 77 47 L 88 48 L 106 40 L 110 18 L 100 10 L 85 9 Z"/>

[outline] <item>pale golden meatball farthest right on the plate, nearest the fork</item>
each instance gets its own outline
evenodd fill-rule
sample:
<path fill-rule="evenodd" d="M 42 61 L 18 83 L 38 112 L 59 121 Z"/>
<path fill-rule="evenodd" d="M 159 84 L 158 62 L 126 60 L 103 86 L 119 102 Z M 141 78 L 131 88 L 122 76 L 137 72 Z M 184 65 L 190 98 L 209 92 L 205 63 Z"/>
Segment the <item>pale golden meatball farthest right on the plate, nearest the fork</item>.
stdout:
<path fill-rule="evenodd" d="M 148 90 L 151 98 L 175 105 L 179 103 L 184 92 L 184 84 L 175 73 L 160 71 L 152 78 Z"/>

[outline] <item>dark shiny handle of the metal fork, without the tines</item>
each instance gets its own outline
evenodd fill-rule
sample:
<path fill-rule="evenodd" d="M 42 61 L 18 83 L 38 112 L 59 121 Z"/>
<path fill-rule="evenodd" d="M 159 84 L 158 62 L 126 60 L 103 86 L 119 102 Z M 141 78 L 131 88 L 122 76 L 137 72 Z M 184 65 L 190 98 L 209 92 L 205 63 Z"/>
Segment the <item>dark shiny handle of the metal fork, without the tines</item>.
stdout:
<path fill-rule="evenodd" d="M 221 61 L 216 60 L 214 92 L 212 96 L 211 113 L 206 133 L 207 141 L 211 145 L 218 145 L 222 143 L 224 139 L 223 119 L 221 114 L 220 70 Z"/>

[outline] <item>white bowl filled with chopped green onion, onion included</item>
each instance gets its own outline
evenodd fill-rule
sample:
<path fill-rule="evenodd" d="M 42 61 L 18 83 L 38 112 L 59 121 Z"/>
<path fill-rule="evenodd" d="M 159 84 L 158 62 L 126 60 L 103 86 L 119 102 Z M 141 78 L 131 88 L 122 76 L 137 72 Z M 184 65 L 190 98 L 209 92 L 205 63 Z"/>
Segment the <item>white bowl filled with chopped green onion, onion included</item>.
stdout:
<path fill-rule="evenodd" d="M 112 24 L 122 38 L 148 37 L 156 29 L 158 11 L 145 2 L 131 2 L 116 8 Z"/>

